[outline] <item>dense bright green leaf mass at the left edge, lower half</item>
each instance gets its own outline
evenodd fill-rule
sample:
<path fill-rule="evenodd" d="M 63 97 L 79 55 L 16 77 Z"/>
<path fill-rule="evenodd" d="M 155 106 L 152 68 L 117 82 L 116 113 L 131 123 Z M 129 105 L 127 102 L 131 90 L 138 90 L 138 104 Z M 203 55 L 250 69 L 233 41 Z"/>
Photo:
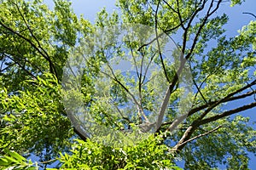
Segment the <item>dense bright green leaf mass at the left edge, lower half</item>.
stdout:
<path fill-rule="evenodd" d="M 62 112 L 60 86 L 49 75 L 44 75 L 44 79 L 38 77 L 38 81 L 24 82 L 26 91 L 20 91 L 17 96 L 2 93 L 5 103 L 2 103 L 1 116 L 6 126 L 0 131 L 1 149 L 8 147 L 40 154 L 44 147 L 52 147 L 51 144 L 55 144 L 52 147 L 55 151 L 69 144 L 72 133 Z"/>

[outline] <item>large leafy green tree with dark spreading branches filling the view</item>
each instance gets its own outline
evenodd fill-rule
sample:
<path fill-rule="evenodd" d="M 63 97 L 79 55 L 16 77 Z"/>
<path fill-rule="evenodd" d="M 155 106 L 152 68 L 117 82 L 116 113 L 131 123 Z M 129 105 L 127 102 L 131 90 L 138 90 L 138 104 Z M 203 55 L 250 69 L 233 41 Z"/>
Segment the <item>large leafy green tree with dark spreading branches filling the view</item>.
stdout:
<path fill-rule="evenodd" d="M 91 25 L 78 18 L 64 0 L 56 0 L 53 10 L 39 0 L 1 0 L 0 167 L 33 168 L 36 164 L 24 157 L 34 154 L 42 167 L 59 156 L 62 168 L 178 169 L 175 160 L 182 159 L 185 169 L 214 169 L 219 164 L 248 169 L 247 153 L 256 152 L 256 131 L 247 124 L 248 117 L 237 113 L 256 105 L 256 22 L 242 27 L 236 37 L 226 37 L 224 24 L 229 18 L 216 14 L 222 3 L 227 2 L 119 0 L 120 16 L 103 9 Z M 231 1 L 232 6 L 237 4 L 241 1 Z M 120 23 L 153 30 L 140 28 L 136 36 L 148 35 L 145 41 L 128 38 L 120 45 L 113 36 L 119 31 L 114 26 Z M 105 34 L 97 35 L 101 29 Z M 182 39 L 172 52 L 177 59 L 173 64 L 162 52 L 174 34 Z M 113 41 L 84 48 L 88 40 L 102 36 Z M 113 71 L 113 60 L 128 60 L 127 53 L 137 70 Z M 71 55 L 73 60 L 68 60 Z M 76 63 L 79 59 L 85 59 L 85 70 Z M 153 69 L 150 81 L 144 83 L 142 67 L 147 62 L 160 70 Z M 76 69 L 63 73 L 65 63 Z M 183 74 L 188 71 L 191 74 Z M 81 82 L 75 86 L 81 93 L 69 87 L 77 82 L 70 81 L 78 78 L 72 76 L 76 73 Z M 186 81 L 191 83 L 192 94 L 183 98 Z M 67 94 L 62 94 L 61 83 Z M 151 129 L 153 133 L 136 145 L 94 143 L 88 134 L 99 129 L 84 131 L 78 112 L 73 113 L 73 105 L 65 105 L 65 99 L 63 105 L 61 95 L 79 99 L 74 101 L 86 106 L 86 114 L 97 126 L 143 134 Z M 242 105 L 224 110 L 224 105 L 241 100 Z M 106 105 L 109 101 L 111 107 Z M 180 113 L 177 108 L 184 102 L 191 105 Z M 157 117 L 151 119 L 155 122 L 148 121 L 150 114 Z M 67 116 L 79 125 L 73 122 L 72 127 Z M 151 128 L 144 126 L 148 122 Z M 102 139 L 108 137 L 99 135 L 96 140 Z"/>

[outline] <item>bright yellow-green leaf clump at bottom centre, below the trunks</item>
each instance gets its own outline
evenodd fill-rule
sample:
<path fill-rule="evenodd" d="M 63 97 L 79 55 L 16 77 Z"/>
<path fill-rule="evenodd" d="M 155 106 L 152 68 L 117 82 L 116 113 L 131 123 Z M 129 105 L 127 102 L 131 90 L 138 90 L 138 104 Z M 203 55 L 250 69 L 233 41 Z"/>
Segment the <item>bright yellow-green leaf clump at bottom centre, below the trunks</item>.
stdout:
<path fill-rule="evenodd" d="M 143 150 L 147 148 L 147 150 Z M 172 168 L 172 155 L 168 147 L 154 137 L 134 146 L 113 148 L 110 146 L 77 140 L 73 146 L 73 155 L 61 155 L 64 168 L 92 169 L 160 169 Z"/>

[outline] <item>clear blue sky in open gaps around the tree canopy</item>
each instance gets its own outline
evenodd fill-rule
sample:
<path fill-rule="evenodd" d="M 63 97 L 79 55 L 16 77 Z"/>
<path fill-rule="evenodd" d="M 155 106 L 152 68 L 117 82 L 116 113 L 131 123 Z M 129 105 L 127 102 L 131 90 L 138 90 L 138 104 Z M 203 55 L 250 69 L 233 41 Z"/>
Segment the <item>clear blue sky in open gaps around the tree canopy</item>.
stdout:
<path fill-rule="evenodd" d="M 52 0 L 45 0 L 46 3 L 49 4 L 49 6 L 53 5 Z M 103 7 L 106 7 L 107 11 L 109 13 L 113 12 L 113 10 L 118 10 L 117 7 L 115 7 L 114 0 L 73 0 L 73 10 L 76 14 L 80 15 L 83 14 L 84 18 L 87 20 L 90 20 L 93 22 L 96 19 L 96 13 L 98 13 Z M 228 37 L 234 37 L 237 35 L 237 31 L 241 29 L 242 26 L 247 25 L 250 20 L 255 20 L 252 15 L 249 14 L 242 14 L 243 12 L 250 12 L 253 14 L 256 14 L 256 1 L 255 0 L 247 0 L 245 3 L 243 3 L 241 6 L 235 6 L 230 7 L 230 3 L 222 3 L 217 14 L 228 14 L 230 17 L 230 20 L 228 24 L 225 26 L 227 30 L 227 36 Z M 178 40 L 178 37 L 175 37 L 176 41 Z M 242 102 L 240 103 L 242 105 Z M 229 105 L 226 109 L 232 108 L 233 105 Z M 245 111 L 243 113 L 240 113 L 244 116 L 251 116 L 251 122 L 256 121 L 256 109 Z M 253 114 L 254 113 L 254 114 Z M 252 116 L 254 115 L 254 116 Z M 250 167 L 256 167 L 256 158 L 253 155 L 251 156 L 250 161 Z M 254 162 L 255 161 L 255 162 Z"/>

